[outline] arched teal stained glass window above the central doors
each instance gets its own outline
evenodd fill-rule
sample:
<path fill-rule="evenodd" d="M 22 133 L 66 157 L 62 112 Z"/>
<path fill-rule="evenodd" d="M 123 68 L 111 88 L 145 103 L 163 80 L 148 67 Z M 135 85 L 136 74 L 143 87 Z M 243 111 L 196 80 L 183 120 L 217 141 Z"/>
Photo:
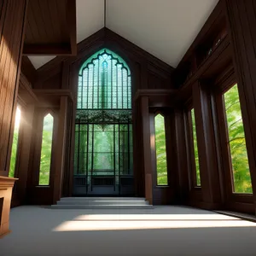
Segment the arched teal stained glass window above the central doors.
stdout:
<path fill-rule="evenodd" d="M 79 72 L 78 109 L 131 109 L 131 73 L 125 61 L 103 49 Z"/>

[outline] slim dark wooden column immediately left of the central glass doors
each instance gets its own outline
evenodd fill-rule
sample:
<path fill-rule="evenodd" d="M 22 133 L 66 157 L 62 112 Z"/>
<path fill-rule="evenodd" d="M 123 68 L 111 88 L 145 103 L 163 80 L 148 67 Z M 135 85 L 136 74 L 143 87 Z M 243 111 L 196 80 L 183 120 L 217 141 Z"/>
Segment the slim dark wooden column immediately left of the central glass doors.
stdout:
<path fill-rule="evenodd" d="M 55 152 L 55 177 L 54 177 L 54 203 L 61 198 L 64 157 L 67 134 L 67 96 L 61 96 L 60 113 L 58 121 L 57 143 Z"/>

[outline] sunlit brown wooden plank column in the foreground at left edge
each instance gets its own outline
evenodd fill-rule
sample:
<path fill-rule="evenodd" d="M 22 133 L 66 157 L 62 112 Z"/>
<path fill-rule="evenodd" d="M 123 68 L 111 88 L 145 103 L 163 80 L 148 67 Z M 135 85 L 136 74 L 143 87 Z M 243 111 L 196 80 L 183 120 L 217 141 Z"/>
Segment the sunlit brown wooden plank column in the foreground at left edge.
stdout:
<path fill-rule="evenodd" d="M 8 176 L 27 0 L 0 1 L 0 175 Z"/>

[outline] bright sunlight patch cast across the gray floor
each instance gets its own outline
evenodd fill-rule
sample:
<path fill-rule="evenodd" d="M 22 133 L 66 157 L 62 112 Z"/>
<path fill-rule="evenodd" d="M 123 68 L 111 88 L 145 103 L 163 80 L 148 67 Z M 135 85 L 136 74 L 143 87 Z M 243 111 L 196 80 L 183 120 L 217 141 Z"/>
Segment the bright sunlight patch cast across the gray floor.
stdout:
<path fill-rule="evenodd" d="M 164 220 L 164 221 L 163 221 Z M 256 227 L 256 223 L 219 214 L 101 214 L 80 215 L 53 231 L 152 230 Z"/>

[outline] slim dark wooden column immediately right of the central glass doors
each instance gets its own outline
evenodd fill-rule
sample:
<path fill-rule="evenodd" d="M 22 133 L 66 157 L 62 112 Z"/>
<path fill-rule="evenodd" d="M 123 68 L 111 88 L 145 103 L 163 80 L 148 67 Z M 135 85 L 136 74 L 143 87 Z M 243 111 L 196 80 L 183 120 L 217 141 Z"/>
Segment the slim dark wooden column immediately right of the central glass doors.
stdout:
<path fill-rule="evenodd" d="M 143 162 L 145 173 L 145 197 L 150 204 L 153 202 L 152 161 L 150 148 L 150 119 L 148 112 L 148 96 L 141 98 L 142 123 L 143 123 Z"/>

